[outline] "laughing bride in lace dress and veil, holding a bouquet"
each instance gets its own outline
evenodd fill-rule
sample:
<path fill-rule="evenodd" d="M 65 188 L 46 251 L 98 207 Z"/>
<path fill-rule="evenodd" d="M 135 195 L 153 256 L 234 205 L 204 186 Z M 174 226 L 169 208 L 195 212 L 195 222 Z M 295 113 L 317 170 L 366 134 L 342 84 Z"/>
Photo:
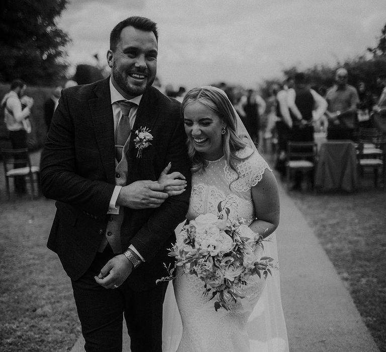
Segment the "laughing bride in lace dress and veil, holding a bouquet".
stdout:
<path fill-rule="evenodd" d="M 229 217 L 245 219 L 251 232 L 265 237 L 261 255 L 277 261 L 276 180 L 227 96 L 212 86 L 192 89 L 184 97 L 182 114 L 192 161 L 186 218 L 217 215 L 218 203 L 226 200 Z M 170 286 L 164 303 L 164 351 L 288 351 L 278 270 L 267 279 L 251 277 L 245 297 L 228 311 L 216 312 L 211 295 L 203 295 L 204 282 L 177 267 L 173 287 L 179 317 Z"/>

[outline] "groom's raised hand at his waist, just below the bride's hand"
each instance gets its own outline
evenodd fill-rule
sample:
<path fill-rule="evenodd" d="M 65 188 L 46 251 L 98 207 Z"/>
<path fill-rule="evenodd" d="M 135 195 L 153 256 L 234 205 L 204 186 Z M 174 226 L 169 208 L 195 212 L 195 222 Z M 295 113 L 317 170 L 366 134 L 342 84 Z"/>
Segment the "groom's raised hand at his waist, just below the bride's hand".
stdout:
<path fill-rule="evenodd" d="M 122 187 L 116 205 L 123 205 L 131 209 L 158 208 L 166 198 L 164 186 L 156 181 L 136 181 Z"/>

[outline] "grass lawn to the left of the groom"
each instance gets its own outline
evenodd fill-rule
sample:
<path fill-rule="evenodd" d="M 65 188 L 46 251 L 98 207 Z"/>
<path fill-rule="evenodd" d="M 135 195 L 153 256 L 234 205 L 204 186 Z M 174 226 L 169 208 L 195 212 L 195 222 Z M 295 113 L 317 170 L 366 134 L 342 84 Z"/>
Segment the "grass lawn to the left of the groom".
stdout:
<path fill-rule="evenodd" d="M 0 204 L 2 351 L 70 350 L 80 334 L 71 283 L 46 247 L 54 202 Z"/>

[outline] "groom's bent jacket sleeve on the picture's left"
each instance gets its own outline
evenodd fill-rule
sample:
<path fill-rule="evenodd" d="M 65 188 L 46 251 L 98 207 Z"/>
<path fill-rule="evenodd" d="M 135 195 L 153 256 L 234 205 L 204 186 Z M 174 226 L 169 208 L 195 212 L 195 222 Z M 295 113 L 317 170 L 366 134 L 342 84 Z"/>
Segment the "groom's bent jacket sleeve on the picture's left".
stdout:
<path fill-rule="evenodd" d="M 88 111 L 82 104 L 86 102 L 77 101 L 78 105 L 73 106 L 75 94 L 68 93 L 62 92 L 42 152 L 42 191 L 46 197 L 77 207 L 92 218 L 104 218 L 115 186 L 107 182 L 103 166 L 98 163 L 98 146 L 87 136 L 92 134 L 91 128 L 82 127 L 83 115 Z M 74 119 L 79 121 L 75 123 Z M 88 150 L 84 139 L 89 141 Z"/>

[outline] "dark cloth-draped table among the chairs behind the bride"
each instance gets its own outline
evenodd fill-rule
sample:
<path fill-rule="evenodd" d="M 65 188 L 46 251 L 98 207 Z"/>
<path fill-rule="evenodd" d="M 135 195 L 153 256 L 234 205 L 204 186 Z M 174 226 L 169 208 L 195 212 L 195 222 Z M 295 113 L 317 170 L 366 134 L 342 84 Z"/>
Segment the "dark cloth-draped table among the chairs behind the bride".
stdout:
<path fill-rule="evenodd" d="M 315 174 L 317 191 L 354 192 L 358 188 L 355 145 L 350 140 L 321 143 Z"/>

